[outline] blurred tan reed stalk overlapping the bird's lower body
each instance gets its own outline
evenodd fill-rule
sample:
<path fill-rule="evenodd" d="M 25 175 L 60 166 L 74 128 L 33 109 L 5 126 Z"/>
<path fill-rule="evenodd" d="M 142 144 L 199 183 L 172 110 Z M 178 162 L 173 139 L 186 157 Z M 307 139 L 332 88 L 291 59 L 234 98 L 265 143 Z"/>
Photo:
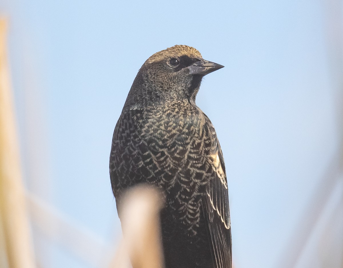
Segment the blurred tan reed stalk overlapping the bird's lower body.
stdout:
<path fill-rule="evenodd" d="M 110 263 L 111 268 L 163 268 L 159 211 L 161 193 L 153 186 L 141 185 L 127 191 L 119 208 L 124 239 Z"/>

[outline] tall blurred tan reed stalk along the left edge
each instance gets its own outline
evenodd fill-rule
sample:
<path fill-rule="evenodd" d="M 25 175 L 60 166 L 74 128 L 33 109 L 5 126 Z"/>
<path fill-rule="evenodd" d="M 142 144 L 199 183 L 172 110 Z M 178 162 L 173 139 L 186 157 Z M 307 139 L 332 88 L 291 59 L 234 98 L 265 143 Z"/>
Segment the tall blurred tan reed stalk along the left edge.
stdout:
<path fill-rule="evenodd" d="M 0 248 L 6 251 L 8 267 L 33 268 L 34 254 L 7 64 L 6 25 L 6 20 L 0 19 Z"/>

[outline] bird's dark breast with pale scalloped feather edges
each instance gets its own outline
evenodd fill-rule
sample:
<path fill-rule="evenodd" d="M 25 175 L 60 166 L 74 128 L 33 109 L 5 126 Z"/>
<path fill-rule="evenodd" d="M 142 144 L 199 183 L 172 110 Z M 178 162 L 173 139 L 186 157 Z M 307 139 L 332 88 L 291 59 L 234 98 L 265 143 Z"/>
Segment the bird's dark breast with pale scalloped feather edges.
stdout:
<path fill-rule="evenodd" d="M 213 172 L 203 116 L 180 109 L 130 110 L 117 131 L 112 174 L 118 188 L 140 182 L 157 185 L 165 192 L 173 217 L 194 231 L 201 196 Z"/>

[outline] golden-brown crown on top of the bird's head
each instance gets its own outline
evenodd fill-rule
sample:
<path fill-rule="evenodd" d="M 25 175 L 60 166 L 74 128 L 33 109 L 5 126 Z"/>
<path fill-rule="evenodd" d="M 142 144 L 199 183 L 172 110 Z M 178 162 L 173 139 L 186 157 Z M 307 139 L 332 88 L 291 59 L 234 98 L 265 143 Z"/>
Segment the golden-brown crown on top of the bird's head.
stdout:
<path fill-rule="evenodd" d="M 161 50 L 153 54 L 146 60 L 145 64 L 161 61 L 168 57 L 189 56 L 190 58 L 202 58 L 201 54 L 195 48 L 186 45 L 175 45 L 174 47 Z"/>

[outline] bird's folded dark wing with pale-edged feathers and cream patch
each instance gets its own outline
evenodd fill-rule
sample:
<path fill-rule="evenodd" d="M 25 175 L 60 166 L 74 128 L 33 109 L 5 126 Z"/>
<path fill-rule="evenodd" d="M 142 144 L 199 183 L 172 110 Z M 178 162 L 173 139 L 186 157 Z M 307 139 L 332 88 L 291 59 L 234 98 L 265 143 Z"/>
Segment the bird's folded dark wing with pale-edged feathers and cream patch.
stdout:
<path fill-rule="evenodd" d="M 231 268 L 232 245 L 227 180 L 223 153 L 216 137 L 214 143 L 210 157 L 214 172 L 206 196 L 202 200 L 203 210 L 209 227 L 210 243 L 213 246 L 214 266 Z"/>

